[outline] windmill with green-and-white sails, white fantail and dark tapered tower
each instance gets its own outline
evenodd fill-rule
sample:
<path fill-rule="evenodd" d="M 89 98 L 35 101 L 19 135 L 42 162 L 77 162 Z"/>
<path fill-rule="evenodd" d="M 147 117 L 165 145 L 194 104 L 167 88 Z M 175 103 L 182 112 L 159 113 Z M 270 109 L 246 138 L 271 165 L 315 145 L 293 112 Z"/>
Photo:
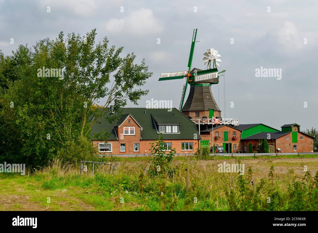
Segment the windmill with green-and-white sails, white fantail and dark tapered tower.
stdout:
<path fill-rule="evenodd" d="M 196 43 L 197 29 L 194 29 L 192 36 L 192 43 L 190 49 L 190 56 L 188 62 L 188 70 L 179 72 L 161 73 L 159 81 L 184 79 L 181 101 L 179 110 L 190 119 L 212 119 L 221 118 L 221 110 L 218 107 L 211 92 L 211 85 L 218 84 L 218 74 L 225 72 L 218 72 L 217 62 L 221 62 L 221 57 L 215 49 L 208 49 L 204 53 L 204 65 L 207 65 L 206 70 L 193 68 L 191 70 L 194 45 Z M 190 85 L 189 96 L 183 106 L 185 93 L 188 84 Z"/>

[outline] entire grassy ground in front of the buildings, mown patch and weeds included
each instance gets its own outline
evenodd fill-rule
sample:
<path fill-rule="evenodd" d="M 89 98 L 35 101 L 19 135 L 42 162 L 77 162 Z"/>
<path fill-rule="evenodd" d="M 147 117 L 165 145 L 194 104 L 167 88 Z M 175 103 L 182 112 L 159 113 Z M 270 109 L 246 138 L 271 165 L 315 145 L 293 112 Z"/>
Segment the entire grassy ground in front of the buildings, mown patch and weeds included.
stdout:
<path fill-rule="evenodd" d="M 224 161 L 238 163 L 225 156 L 176 157 L 163 175 L 150 166 L 145 177 L 149 157 L 104 160 L 117 161 L 113 174 L 95 166 L 93 177 L 88 166 L 81 175 L 79 165 L 60 161 L 32 175 L 2 173 L 0 210 L 318 210 L 316 155 L 240 158 L 244 175 L 218 172 Z"/>

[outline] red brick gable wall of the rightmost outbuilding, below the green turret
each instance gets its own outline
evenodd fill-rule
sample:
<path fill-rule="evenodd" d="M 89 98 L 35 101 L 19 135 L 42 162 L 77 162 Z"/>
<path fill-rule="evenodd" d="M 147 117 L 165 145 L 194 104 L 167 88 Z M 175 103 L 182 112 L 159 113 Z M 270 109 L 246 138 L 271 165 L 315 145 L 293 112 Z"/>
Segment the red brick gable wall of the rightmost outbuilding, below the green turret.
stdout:
<path fill-rule="evenodd" d="M 297 128 L 298 130 L 298 128 Z M 289 137 L 286 140 L 286 137 Z M 300 139 L 303 136 L 304 139 Z M 312 152 L 314 149 L 313 139 L 308 137 L 306 134 L 301 132 L 297 133 L 297 143 L 292 142 L 292 132 L 276 139 L 276 148 L 281 149 L 281 153 L 303 153 L 303 152 Z M 297 149 L 294 151 L 293 146 L 296 145 Z M 276 150 L 275 148 L 275 150 Z"/>

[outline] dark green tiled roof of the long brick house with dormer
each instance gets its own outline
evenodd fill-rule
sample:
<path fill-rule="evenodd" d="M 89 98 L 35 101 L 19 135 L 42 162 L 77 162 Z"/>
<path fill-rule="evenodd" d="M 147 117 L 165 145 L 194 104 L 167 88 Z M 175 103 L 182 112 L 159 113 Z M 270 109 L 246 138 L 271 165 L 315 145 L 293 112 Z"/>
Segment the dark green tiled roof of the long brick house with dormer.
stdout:
<path fill-rule="evenodd" d="M 193 140 L 194 134 L 197 135 L 197 139 L 201 139 L 197 130 L 197 126 L 176 108 L 173 108 L 171 112 L 168 112 L 167 109 L 122 108 L 122 115 L 118 118 L 118 120 L 115 120 L 112 123 L 109 123 L 105 119 L 105 116 L 109 114 L 109 110 L 107 109 L 106 111 L 104 117 L 100 117 L 99 119 L 97 119 L 92 127 L 91 136 L 93 140 L 94 134 L 102 134 L 103 132 L 109 132 L 110 136 L 108 137 L 108 140 L 117 140 L 114 126 L 120 125 L 118 124 L 120 119 L 126 119 L 129 114 L 142 127 L 142 140 L 155 140 L 156 138 L 158 138 L 157 128 L 155 126 L 153 117 L 160 122 L 158 122 L 159 124 L 180 124 L 180 134 L 162 134 L 163 140 Z"/>

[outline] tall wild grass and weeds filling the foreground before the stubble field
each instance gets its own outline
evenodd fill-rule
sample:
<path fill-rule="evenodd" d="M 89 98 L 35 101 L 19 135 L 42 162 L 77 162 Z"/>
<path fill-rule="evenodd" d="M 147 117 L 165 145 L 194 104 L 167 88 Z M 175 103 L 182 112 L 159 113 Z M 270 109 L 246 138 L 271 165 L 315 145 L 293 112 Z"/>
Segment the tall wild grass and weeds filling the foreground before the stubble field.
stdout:
<path fill-rule="evenodd" d="M 34 177 L 44 189 L 79 188 L 84 195 L 78 198 L 104 210 L 318 210 L 318 172 L 300 176 L 290 170 L 281 176 L 272 166 L 261 173 L 256 168 L 247 168 L 245 175 L 220 173 L 217 161 L 185 157 L 167 164 L 162 174 L 152 165 L 144 176 L 149 162 L 150 157 L 122 160 L 113 174 L 109 166 L 95 165 L 92 176 L 90 164 L 80 174 L 79 164 L 55 159 Z"/>

